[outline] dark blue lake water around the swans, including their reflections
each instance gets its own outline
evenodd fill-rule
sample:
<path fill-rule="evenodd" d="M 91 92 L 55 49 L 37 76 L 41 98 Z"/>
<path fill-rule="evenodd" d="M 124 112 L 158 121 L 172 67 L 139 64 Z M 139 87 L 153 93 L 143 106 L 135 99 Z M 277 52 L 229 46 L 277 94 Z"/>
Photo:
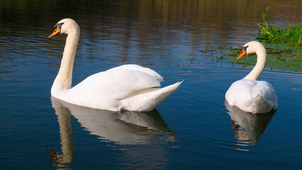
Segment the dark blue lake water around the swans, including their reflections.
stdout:
<path fill-rule="evenodd" d="M 252 67 L 201 52 L 255 40 L 267 6 L 277 26 L 301 22 L 298 0 L 0 1 L 0 169 L 301 169 L 301 73 L 265 69 L 279 108 L 252 115 L 224 99 Z M 51 98 L 62 18 L 81 27 L 73 84 L 129 63 L 185 81 L 147 113 Z"/>

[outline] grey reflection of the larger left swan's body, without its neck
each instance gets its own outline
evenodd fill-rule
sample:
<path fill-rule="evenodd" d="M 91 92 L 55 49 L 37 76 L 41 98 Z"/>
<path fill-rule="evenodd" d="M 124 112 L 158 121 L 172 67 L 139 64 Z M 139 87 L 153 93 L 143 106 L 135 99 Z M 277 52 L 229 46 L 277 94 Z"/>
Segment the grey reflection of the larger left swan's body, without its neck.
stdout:
<path fill-rule="evenodd" d="M 166 135 L 167 140 L 176 142 L 174 132 L 168 128 L 158 111 L 104 111 L 76 106 L 57 98 L 52 98 L 52 107 L 58 115 L 60 127 L 70 126 L 70 121 L 59 115 L 73 115 L 91 135 L 117 145 L 142 145 L 155 140 L 157 134 Z M 70 118 L 69 118 L 70 119 Z"/>

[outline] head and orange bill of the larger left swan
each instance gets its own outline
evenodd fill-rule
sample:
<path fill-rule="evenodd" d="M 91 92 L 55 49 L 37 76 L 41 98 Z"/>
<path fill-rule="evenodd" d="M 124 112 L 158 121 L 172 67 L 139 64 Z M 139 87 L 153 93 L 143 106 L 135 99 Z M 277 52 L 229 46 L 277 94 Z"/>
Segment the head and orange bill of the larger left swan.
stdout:
<path fill-rule="evenodd" d="M 52 38 L 53 36 L 58 35 L 60 33 L 74 33 L 74 31 L 80 33 L 80 27 L 78 23 L 76 23 L 76 21 L 71 18 L 65 18 L 59 21 L 56 25 L 54 25 L 54 32 L 48 38 Z"/>

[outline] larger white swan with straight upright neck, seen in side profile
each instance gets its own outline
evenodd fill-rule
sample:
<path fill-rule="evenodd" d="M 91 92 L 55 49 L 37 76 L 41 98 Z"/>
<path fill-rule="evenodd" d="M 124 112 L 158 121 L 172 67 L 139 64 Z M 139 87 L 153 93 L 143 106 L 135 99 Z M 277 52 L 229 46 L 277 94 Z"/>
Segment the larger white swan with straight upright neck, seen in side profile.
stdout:
<path fill-rule="evenodd" d="M 93 74 L 71 88 L 80 28 L 76 21 L 65 18 L 54 26 L 49 38 L 60 33 L 67 34 L 66 45 L 51 94 L 62 101 L 109 111 L 152 111 L 182 83 L 153 88 L 161 86 L 161 75 L 146 67 L 126 64 Z"/>

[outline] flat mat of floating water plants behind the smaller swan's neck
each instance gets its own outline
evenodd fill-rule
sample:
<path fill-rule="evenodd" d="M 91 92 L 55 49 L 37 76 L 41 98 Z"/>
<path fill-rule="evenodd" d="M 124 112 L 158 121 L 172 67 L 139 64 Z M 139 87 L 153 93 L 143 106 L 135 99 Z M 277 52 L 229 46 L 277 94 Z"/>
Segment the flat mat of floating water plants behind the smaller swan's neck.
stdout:
<path fill-rule="evenodd" d="M 265 44 L 267 49 L 266 69 L 278 69 L 291 72 L 302 72 L 302 52 L 295 47 L 288 45 Z M 257 62 L 257 55 L 247 55 L 240 60 L 237 57 L 240 55 L 242 47 L 231 47 L 221 49 L 220 47 L 212 46 L 211 50 L 202 50 L 199 53 L 191 52 L 185 57 L 180 57 L 178 63 L 170 59 L 175 67 L 183 66 L 185 72 L 190 69 L 191 65 L 199 64 L 204 60 L 230 62 L 241 67 L 254 67 Z"/>

